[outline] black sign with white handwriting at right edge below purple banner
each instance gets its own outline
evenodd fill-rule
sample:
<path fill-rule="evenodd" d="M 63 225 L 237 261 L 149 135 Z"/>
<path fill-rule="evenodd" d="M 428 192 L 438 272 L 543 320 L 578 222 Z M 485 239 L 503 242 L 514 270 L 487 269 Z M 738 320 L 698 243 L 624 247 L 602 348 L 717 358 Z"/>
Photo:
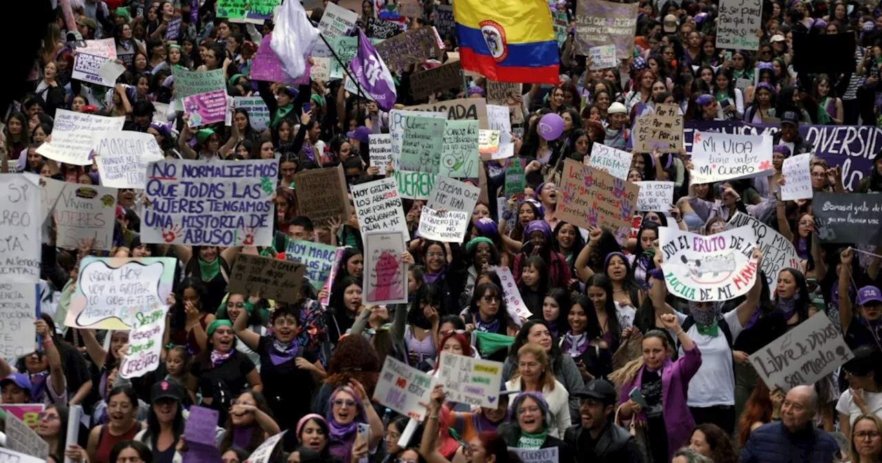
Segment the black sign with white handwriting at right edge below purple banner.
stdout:
<path fill-rule="evenodd" d="M 811 213 L 823 243 L 882 244 L 882 195 L 815 193 Z"/>

